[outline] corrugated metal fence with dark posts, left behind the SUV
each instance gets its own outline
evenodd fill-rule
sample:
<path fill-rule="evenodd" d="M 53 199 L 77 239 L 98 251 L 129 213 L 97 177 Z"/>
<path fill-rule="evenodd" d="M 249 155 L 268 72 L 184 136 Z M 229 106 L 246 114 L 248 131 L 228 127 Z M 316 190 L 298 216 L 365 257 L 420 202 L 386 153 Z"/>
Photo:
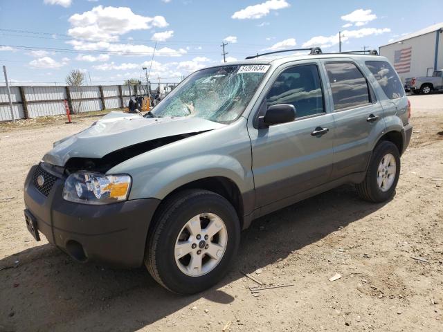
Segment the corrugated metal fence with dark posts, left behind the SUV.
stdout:
<path fill-rule="evenodd" d="M 65 114 L 64 100 L 71 113 L 126 107 L 129 95 L 147 95 L 147 85 L 111 86 L 10 86 L 15 119 Z M 0 121 L 12 120 L 8 89 L 0 86 Z"/>

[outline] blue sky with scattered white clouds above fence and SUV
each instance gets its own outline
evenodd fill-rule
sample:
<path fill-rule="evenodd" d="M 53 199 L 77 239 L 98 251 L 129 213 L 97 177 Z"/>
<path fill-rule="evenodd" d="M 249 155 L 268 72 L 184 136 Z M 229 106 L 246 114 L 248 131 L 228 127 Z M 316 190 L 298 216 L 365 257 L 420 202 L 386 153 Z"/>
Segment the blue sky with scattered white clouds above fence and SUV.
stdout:
<path fill-rule="evenodd" d="M 74 68 L 92 84 L 141 77 L 178 82 L 198 68 L 265 50 L 378 48 L 443 21 L 442 0 L 0 0 L 0 64 L 15 84 L 63 84 Z M 14 47 L 20 46 L 20 47 Z M 3 77 L 2 77 L 3 80 Z"/>

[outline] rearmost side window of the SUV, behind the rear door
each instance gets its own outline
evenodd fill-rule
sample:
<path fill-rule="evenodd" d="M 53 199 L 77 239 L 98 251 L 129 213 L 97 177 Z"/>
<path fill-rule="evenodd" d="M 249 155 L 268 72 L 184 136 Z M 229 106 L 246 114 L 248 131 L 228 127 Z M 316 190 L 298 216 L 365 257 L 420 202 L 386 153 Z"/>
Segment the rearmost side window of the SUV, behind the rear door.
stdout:
<path fill-rule="evenodd" d="M 397 73 L 395 73 L 394 68 L 392 68 L 388 62 L 367 61 L 365 64 L 389 99 L 397 99 L 404 96 L 403 85 Z"/>

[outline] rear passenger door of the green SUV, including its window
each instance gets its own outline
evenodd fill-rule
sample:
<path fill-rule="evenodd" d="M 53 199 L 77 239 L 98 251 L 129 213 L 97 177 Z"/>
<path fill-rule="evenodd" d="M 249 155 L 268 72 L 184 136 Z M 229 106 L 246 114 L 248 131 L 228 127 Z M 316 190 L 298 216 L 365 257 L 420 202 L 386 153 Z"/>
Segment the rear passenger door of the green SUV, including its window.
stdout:
<path fill-rule="evenodd" d="M 366 169 L 372 144 L 385 127 L 383 108 L 352 59 L 323 60 L 335 122 L 332 180 Z"/>

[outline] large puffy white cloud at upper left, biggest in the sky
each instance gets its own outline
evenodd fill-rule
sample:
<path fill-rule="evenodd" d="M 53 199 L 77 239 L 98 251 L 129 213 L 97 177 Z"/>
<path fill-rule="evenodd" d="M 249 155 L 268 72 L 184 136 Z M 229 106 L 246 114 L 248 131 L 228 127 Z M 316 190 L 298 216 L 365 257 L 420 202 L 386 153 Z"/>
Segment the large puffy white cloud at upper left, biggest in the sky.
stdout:
<path fill-rule="evenodd" d="M 153 27 L 165 28 L 168 22 L 163 16 L 145 17 L 136 15 L 128 7 L 97 6 L 69 17 L 71 28 L 68 35 L 87 40 L 116 42 L 118 36 L 132 30 L 147 30 Z"/>

